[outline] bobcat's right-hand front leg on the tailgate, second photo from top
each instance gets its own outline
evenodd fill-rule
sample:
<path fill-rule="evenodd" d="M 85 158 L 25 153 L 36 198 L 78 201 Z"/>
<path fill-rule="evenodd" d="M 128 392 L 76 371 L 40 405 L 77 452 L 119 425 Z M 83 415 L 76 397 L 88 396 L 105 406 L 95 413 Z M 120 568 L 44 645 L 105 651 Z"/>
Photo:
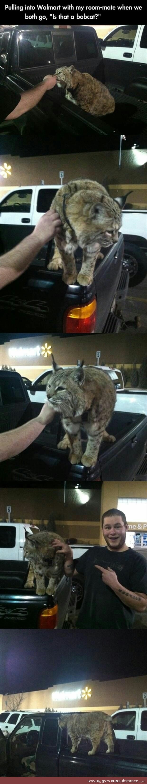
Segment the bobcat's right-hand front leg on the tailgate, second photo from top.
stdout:
<path fill-rule="evenodd" d="M 83 251 L 82 267 L 79 272 L 77 281 L 81 286 L 88 286 L 93 283 L 93 272 L 96 265 L 96 260 L 100 253 L 100 245 L 93 247 L 87 245 Z"/>

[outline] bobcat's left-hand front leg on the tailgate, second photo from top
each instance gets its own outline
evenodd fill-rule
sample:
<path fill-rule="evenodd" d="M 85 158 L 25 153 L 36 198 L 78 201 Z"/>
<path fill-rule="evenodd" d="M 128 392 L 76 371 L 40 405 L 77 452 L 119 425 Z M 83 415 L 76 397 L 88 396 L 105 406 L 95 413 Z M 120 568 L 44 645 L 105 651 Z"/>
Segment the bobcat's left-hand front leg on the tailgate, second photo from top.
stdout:
<path fill-rule="evenodd" d="M 67 241 L 66 238 L 61 237 L 60 234 L 56 237 L 56 245 L 60 254 L 62 267 L 64 270 L 62 280 L 68 285 L 72 285 L 77 280 L 77 271 L 75 267 L 74 250 L 77 247 L 76 243 Z"/>

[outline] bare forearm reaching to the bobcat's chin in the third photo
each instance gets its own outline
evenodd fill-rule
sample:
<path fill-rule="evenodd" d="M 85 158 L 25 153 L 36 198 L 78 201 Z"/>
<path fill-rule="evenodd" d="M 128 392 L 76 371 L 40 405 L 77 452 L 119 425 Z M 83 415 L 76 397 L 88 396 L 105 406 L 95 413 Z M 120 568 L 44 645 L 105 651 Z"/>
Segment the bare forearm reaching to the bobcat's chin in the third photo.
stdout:
<path fill-rule="evenodd" d="M 0 436 L 0 460 L 8 460 L 11 457 L 24 452 L 35 438 L 44 430 L 44 424 L 38 418 L 31 419 L 25 425 L 17 427 L 16 430 L 9 430 Z"/>

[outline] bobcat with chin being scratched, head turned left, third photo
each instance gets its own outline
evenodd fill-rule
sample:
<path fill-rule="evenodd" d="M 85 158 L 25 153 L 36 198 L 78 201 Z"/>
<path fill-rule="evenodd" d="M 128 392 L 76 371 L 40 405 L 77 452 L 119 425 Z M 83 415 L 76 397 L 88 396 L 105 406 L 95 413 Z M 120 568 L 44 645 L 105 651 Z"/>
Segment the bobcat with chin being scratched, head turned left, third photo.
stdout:
<path fill-rule="evenodd" d="M 110 421 L 114 411 L 116 392 L 114 384 L 99 368 L 83 368 L 83 362 L 78 368 L 58 367 L 54 362 L 53 375 L 47 383 L 47 400 L 55 411 L 61 413 L 61 420 L 65 429 L 65 437 L 58 444 L 58 449 L 70 448 L 70 463 L 80 463 L 83 466 L 94 466 L 102 439 L 115 441 L 114 436 L 107 434 L 105 427 Z M 88 435 L 86 452 L 82 455 L 80 429 L 82 415 L 88 412 L 84 427 Z"/>

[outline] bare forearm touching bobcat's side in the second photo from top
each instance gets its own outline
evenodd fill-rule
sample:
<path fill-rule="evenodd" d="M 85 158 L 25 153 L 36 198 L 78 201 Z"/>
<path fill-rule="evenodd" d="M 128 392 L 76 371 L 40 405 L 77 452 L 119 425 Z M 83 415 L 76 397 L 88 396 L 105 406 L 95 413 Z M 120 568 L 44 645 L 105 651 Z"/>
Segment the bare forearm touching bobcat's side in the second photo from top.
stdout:
<path fill-rule="evenodd" d="M 42 247 L 42 241 L 33 231 L 16 248 L 5 253 L 0 258 L 0 289 L 13 280 L 19 278 L 35 258 Z"/>

